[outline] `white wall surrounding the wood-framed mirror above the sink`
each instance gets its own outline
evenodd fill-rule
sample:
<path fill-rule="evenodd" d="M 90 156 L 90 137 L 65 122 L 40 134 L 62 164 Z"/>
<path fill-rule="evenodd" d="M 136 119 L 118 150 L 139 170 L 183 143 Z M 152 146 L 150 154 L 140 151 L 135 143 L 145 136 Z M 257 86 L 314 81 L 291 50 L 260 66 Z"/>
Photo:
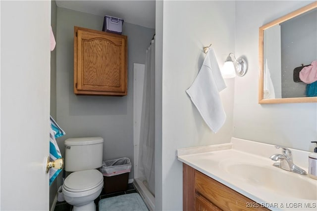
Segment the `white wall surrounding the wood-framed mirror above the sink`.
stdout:
<path fill-rule="evenodd" d="M 259 27 L 313 1 L 236 1 L 236 55 L 249 69 L 235 79 L 233 136 L 312 151 L 317 103 L 258 104 Z"/>

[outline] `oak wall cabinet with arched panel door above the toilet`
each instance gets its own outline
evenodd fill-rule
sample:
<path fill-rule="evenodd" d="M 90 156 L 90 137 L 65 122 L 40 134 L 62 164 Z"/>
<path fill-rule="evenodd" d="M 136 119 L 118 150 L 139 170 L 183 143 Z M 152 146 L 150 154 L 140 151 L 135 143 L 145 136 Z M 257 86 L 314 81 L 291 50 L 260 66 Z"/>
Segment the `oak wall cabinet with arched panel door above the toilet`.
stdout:
<path fill-rule="evenodd" d="M 74 27 L 74 93 L 127 95 L 127 36 Z"/>

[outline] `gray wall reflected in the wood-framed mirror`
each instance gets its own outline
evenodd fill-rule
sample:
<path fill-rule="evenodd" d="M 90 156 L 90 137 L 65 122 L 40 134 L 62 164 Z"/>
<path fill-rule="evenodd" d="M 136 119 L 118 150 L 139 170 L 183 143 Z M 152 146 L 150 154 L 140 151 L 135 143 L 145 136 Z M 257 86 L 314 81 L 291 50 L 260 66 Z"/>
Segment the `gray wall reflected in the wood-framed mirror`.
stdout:
<path fill-rule="evenodd" d="M 306 97 L 306 84 L 293 81 L 293 70 L 317 59 L 316 20 L 317 9 L 281 24 L 282 98 Z"/>

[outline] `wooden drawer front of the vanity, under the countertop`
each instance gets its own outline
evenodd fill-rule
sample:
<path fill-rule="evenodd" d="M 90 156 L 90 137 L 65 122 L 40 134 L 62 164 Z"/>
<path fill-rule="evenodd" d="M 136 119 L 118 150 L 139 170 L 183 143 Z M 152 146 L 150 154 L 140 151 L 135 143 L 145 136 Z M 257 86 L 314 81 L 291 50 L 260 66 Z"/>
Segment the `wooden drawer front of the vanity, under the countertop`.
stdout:
<path fill-rule="evenodd" d="M 196 196 L 202 195 L 221 210 L 268 211 L 260 204 L 197 170 L 195 170 L 195 191 Z M 201 201 L 201 198 L 198 200 Z"/>

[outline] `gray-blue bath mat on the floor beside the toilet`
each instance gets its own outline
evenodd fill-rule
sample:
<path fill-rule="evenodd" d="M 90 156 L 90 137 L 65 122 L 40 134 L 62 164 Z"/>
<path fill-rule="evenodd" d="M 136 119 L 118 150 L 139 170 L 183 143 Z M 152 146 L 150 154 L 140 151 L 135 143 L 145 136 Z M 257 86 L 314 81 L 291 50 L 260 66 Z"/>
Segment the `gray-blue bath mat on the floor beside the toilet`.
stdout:
<path fill-rule="evenodd" d="M 98 208 L 99 211 L 149 211 L 138 193 L 102 199 Z"/>

